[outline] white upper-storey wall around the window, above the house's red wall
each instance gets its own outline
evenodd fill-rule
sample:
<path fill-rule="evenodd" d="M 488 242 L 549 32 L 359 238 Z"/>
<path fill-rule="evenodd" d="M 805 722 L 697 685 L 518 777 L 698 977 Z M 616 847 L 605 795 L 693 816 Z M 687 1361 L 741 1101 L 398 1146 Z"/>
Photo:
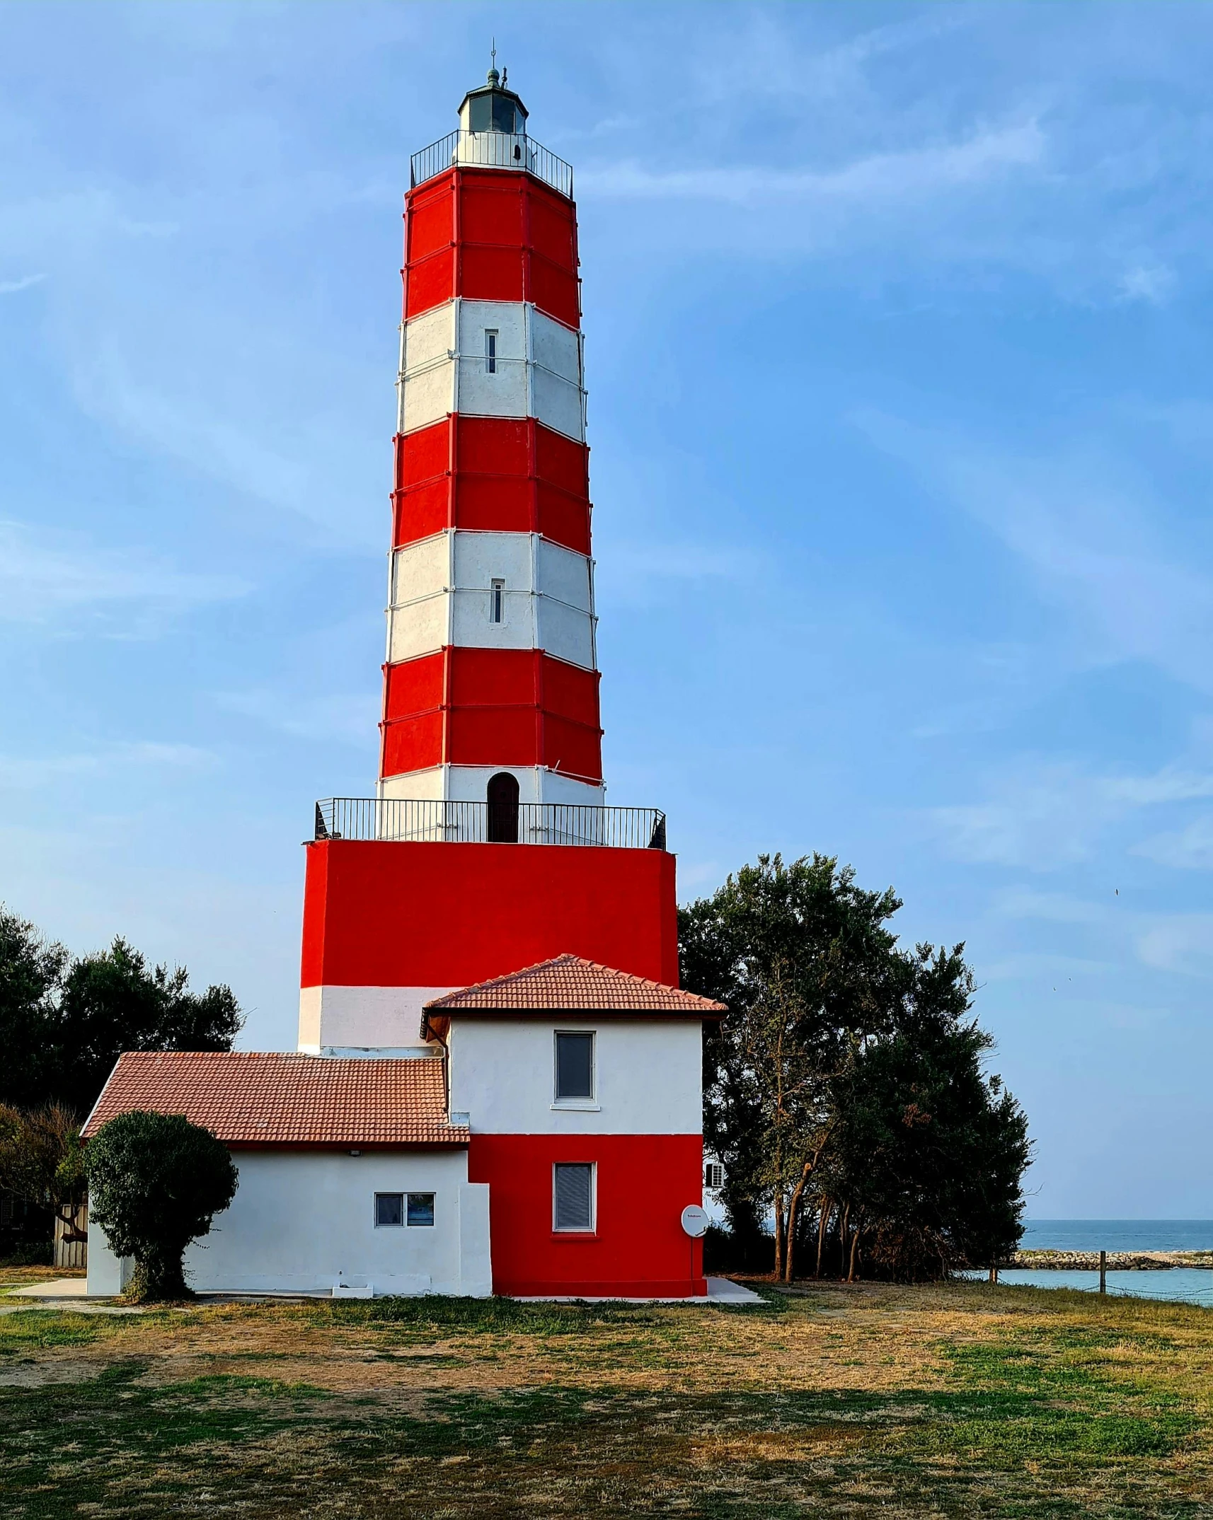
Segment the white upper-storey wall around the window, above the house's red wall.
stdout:
<path fill-rule="evenodd" d="M 450 1107 L 476 1134 L 702 1134 L 698 1020 L 451 1020 Z M 556 1029 L 596 1034 L 593 1104 L 555 1104 Z"/>

